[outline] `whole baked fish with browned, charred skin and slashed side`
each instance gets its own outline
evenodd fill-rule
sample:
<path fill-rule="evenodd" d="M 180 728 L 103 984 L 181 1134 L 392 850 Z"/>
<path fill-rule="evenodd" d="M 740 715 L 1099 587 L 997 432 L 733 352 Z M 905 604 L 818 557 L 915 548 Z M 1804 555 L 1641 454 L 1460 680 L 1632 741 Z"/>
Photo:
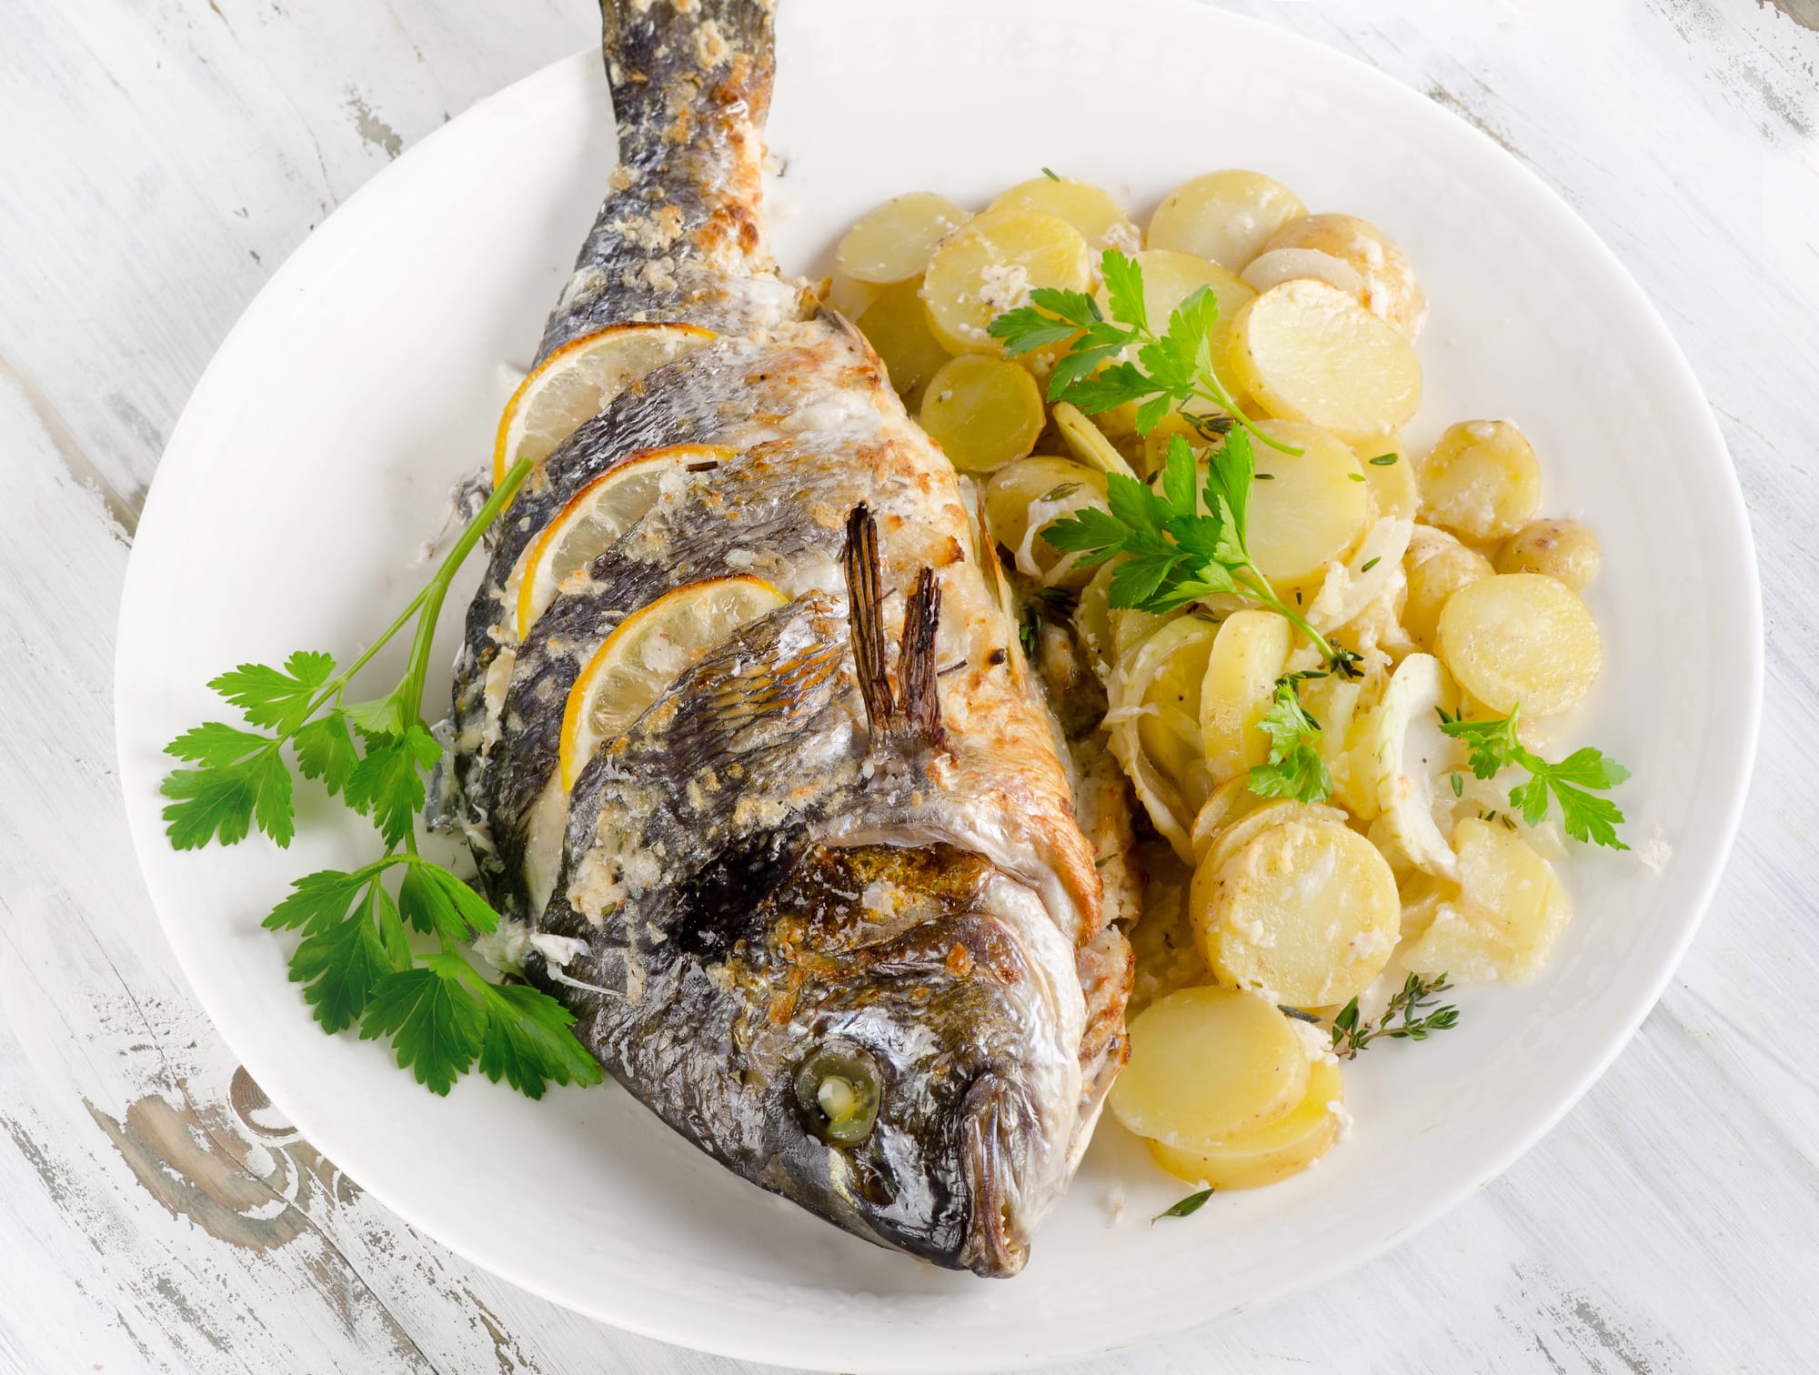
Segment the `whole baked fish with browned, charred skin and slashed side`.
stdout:
<path fill-rule="evenodd" d="M 771 2 L 602 13 L 620 166 L 538 356 L 697 333 L 531 475 L 467 615 L 455 766 L 509 918 L 495 955 L 739 1175 L 1013 1275 L 1124 1059 L 1122 898 L 1095 868 L 1119 851 L 1122 875 L 1122 786 L 1070 753 L 951 464 L 766 251 Z M 537 535 L 677 446 L 698 460 L 520 640 Z M 740 577 L 779 604 L 669 666 L 566 786 L 569 693 L 608 635 Z"/>

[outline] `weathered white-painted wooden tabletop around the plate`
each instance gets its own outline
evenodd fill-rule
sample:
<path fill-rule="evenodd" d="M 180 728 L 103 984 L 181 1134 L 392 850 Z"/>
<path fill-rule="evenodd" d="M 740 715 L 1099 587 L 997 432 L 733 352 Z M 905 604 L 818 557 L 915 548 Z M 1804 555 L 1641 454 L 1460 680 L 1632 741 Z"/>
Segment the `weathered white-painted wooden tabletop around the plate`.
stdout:
<path fill-rule="evenodd" d="M 1819 0 L 1224 4 L 1488 131 L 1661 304 L 1755 520 L 1764 749 L 1692 955 L 1537 1149 L 1362 1273 L 1093 1368 L 1812 1370 Z M 337 202 L 595 24 L 588 0 L 0 5 L 5 1375 L 735 1370 L 487 1277 L 289 1131 L 173 966 L 113 764 L 135 517 L 209 355 Z"/>

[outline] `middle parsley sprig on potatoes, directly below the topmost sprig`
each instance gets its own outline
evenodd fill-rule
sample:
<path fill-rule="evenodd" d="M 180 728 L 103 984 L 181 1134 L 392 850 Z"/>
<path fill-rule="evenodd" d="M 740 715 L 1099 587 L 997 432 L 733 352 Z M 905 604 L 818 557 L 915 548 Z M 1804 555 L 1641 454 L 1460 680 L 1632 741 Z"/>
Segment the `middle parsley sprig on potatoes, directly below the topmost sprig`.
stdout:
<path fill-rule="evenodd" d="M 1266 606 L 1313 642 L 1326 664 L 1355 673 L 1357 655 L 1330 644 L 1288 606 L 1259 571 L 1250 551 L 1250 491 L 1257 473 L 1250 438 L 1233 429 L 1210 451 L 1206 487 L 1188 440 L 1168 442 L 1161 491 L 1137 478 L 1106 477 L 1108 511 L 1082 507 L 1055 520 L 1042 538 L 1064 553 L 1079 553 L 1091 567 L 1122 557 L 1108 587 L 1115 607 L 1173 611 L 1202 597 L 1235 593 Z"/>

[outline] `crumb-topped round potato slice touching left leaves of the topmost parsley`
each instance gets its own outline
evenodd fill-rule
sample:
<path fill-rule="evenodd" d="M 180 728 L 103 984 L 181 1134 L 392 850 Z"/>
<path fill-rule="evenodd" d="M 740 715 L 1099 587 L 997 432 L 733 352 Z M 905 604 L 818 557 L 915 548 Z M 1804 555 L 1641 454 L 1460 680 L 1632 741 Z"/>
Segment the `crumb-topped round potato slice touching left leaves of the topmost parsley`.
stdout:
<path fill-rule="evenodd" d="M 1035 287 L 1086 291 L 1093 255 L 1080 231 L 1048 211 L 986 211 L 948 235 L 922 275 L 922 302 L 950 353 L 995 353 L 986 327 L 1030 304 Z"/>

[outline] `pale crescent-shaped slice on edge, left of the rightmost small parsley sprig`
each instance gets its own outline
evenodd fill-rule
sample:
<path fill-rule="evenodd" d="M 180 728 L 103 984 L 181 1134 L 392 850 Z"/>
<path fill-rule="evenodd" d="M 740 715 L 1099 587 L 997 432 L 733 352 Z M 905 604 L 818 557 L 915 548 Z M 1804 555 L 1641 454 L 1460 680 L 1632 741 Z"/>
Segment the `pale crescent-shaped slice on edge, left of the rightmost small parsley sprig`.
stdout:
<path fill-rule="evenodd" d="M 1439 708 L 1459 709 L 1452 678 L 1432 655 L 1410 655 L 1372 713 L 1368 749 L 1386 835 L 1417 869 L 1453 878 L 1453 848 L 1439 817 L 1452 798 L 1444 778 L 1464 768 L 1464 748 L 1441 733 Z"/>

